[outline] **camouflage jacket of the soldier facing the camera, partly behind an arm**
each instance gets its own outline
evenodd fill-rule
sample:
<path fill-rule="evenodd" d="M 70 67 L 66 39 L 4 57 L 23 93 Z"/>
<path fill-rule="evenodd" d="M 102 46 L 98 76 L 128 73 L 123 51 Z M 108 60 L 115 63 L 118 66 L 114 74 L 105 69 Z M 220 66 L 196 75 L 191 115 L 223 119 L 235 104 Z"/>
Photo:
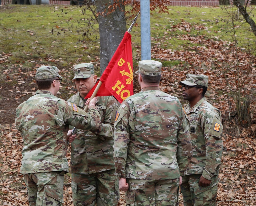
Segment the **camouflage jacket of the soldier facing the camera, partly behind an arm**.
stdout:
<path fill-rule="evenodd" d="M 68 101 L 84 107 L 85 100 L 79 93 Z M 101 125 L 97 130 L 78 130 L 71 143 L 71 172 L 91 174 L 114 169 L 113 144 L 115 115 L 120 103 L 113 96 L 99 97 L 96 107 Z"/>

